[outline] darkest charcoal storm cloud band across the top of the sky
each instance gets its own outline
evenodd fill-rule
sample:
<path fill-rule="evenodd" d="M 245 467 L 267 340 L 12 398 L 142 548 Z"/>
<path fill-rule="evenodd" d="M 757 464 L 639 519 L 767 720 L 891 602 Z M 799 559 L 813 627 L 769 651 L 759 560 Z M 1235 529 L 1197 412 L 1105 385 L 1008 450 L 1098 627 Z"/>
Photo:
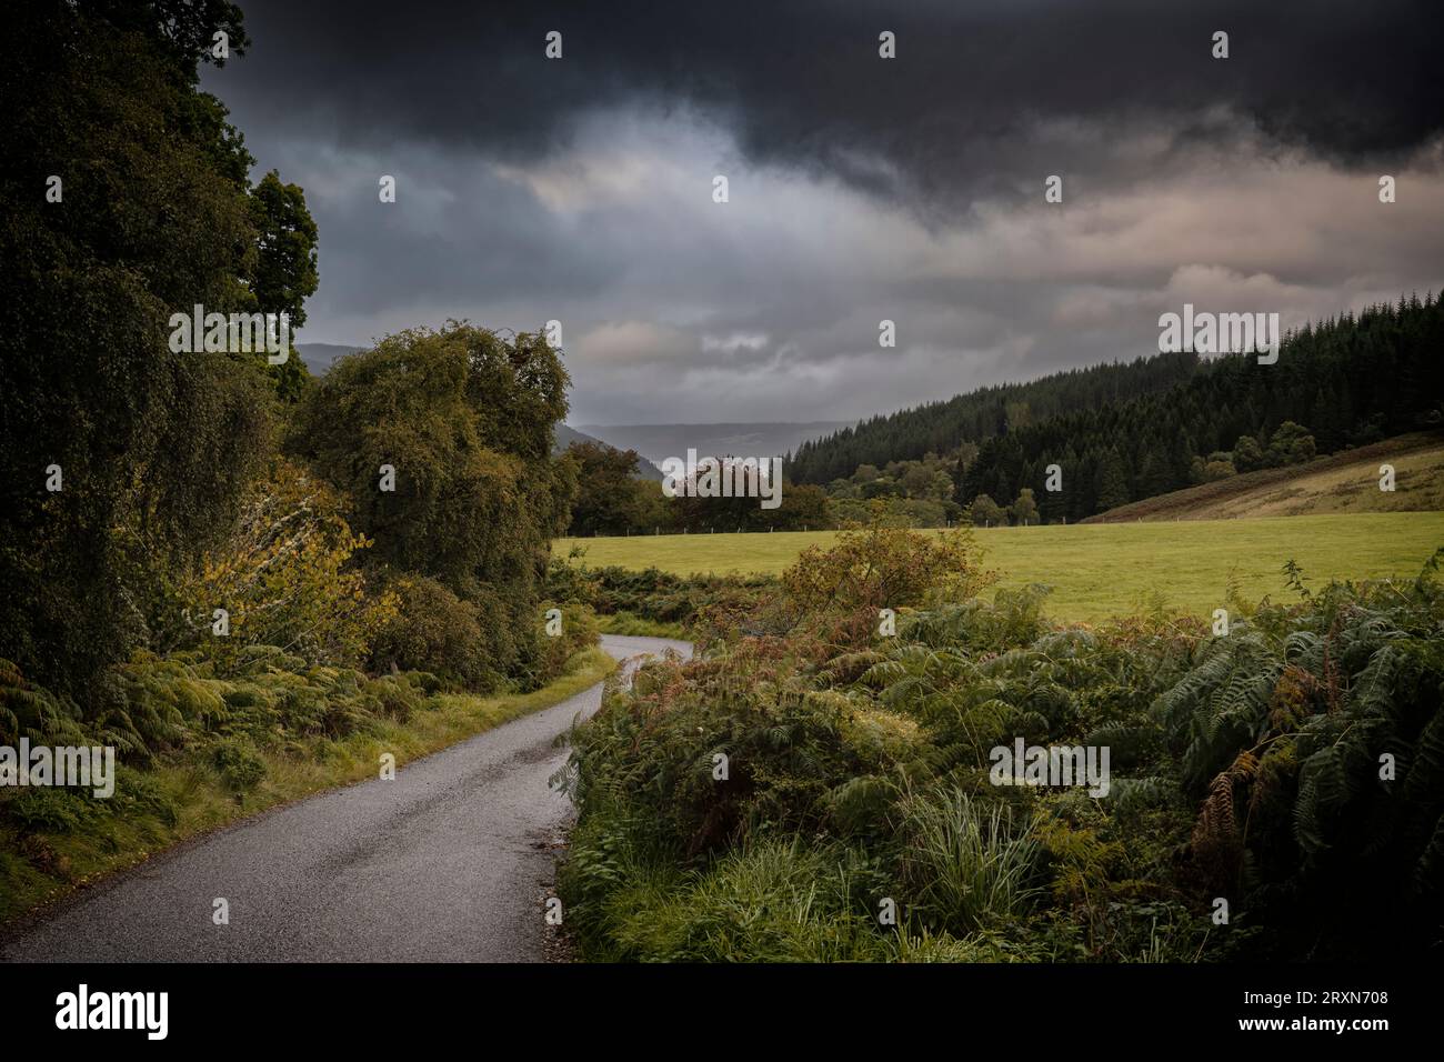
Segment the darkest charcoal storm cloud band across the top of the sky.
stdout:
<path fill-rule="evenodd" d="M 1219 137 L 1190 121 L 1223 108 L 1362 162 L 1437 131 L 1444 98 L 1432 0 L 244 7 L 250 113 L 325 124 L 342 146 L 432 140 L 530 160 L 588 111 L 690 104 L 755 162 L 954 201 L 1006 195 L 1018 175 L 998 156 L 1038 123 L 1165 123 L 1187 142 Z M 543 58 L 552 29 L 562 62 Z M 895 61 L 878 59 L 882 29 Z M 1227 61 L 1210 55 L 1219 29 Z"/>

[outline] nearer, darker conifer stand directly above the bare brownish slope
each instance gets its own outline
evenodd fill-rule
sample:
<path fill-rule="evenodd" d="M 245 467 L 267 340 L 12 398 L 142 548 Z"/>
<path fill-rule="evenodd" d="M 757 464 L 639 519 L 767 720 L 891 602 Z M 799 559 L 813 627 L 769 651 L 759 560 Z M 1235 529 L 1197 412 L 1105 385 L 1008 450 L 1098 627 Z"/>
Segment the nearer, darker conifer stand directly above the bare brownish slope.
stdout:
<path fill-rule="evenodd" d="M 1441 350 L 1432 295 L 1346 314 L 1285 338 L 1276 364 L 1227 355 L 1167 392 L 995 435 L 959 468 L 957 497 L 1031 488 L 1041 519 L 1077 520 L 1188 487 L 1212 467 L 1245 472 L 1415 431 L 1440 419 Z M 1061 490 L 1045 490 L 1050 464 Z"/>

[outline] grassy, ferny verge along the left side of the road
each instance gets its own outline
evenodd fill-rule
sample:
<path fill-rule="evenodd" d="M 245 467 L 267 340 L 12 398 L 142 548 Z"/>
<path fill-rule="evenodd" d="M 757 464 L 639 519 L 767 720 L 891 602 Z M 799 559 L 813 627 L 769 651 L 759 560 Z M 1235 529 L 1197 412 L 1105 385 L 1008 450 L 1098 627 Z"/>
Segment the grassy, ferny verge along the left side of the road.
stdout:
<path fill-rule="evenodd" d="M 383 753 L 394 754 L 400 767 L 550 708 L 601 682 L 615 668 L 611 656 L 592 647 L 576 653 L 562 678 L 530 694 L 439 694 L 404 722 L 378 720 L 365 733 L 339 740 L 316 737 L 284 750 L 263 750 L 258 756 L 264 777 L 244 796 L 237 796 L 199 754 L 180 754 L 155 770 L 121 769 L 116 802 L 104 813 L 61 831 L 22 835 L 12 826 L 0 826 L 0 925 L 180 841 L 325 789 L 375 777 Z"/>

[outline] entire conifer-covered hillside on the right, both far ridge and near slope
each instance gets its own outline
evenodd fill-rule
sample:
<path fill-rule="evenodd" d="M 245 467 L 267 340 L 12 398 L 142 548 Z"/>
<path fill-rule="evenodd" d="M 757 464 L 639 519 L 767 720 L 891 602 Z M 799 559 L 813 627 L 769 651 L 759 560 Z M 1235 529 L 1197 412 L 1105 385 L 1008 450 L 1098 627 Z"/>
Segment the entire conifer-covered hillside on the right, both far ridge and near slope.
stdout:
<path fill-rule="evenodd" d="M 1006 507 L 1031 490 L 1040 519 L 1079 520 L 1438 423 L 1441 345 L 1438 301 L 1412 296 L 1289 334 L 1271 366 L 1160 354 L 874 418 L 803 445 L 788 475 L 833 484 L 859 467 L 950 455 L 957 504 Z M 1061 488 L 1048 491 L 1054 464 Z"/>

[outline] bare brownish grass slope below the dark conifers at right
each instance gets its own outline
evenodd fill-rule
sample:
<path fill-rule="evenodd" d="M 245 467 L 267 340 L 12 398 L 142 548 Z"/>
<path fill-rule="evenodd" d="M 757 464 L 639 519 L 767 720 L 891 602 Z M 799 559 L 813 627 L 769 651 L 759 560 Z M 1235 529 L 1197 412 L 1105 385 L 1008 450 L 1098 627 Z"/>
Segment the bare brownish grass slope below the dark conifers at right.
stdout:
<path fill-rule="evenodd" d="M 1382 464 L 1393 465 L 1392 493 L 1379 490 Z M 1444 511 L 1444 433 L 1415 432 L 1301 465 L 1230 475 L 1119 506 L 1082 523 L 1405 511 Z"/>

